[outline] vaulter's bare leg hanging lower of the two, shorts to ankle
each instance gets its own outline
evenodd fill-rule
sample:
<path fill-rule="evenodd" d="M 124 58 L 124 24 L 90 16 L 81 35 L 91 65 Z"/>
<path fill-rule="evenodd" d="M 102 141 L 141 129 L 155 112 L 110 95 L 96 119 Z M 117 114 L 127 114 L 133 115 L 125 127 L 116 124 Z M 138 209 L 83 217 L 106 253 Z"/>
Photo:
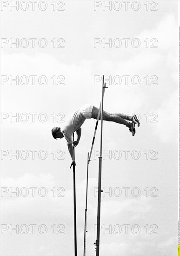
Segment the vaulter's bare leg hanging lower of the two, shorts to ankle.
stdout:
<path fill-rule="evenodd" d="M 97 119 L 98 117 L 99 108 L 93 107 L 91 116 L 94 119 Z M 131 128 L 131 122 L 127 122 L 123 118 L 121 118 L 119 115 L 112 115 L 106 111 L 103 111 L 103 120 L 105 121 L 113 121 L 116 123 L 120 123 L 123 125 L 126 125 L 128 128 Z"/>

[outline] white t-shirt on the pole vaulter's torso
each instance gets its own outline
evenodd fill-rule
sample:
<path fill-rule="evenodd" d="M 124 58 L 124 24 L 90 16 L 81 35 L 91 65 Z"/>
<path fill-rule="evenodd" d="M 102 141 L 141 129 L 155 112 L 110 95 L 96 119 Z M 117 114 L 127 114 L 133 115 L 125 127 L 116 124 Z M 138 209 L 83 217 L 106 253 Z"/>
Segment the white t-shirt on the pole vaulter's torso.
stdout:
<path fill-rule="evenodd" d="M 72 134 L 84 123 L 86 118 L 81 114 L 80 109 L 72 113 L 60 128 L 61 133 L 67 140 L 67 145 L 72 144 Z"/>

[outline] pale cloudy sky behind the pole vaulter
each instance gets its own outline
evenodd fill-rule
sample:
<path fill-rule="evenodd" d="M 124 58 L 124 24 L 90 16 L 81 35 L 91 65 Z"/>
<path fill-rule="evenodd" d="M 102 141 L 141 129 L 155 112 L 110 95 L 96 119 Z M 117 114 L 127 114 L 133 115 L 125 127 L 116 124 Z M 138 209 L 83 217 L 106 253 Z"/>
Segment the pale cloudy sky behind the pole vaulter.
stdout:
<path fill-rule="evenodd" d="M 13 1 L 14 2 L 14 1 Z M 19 1 L 20 2 L 20 1 Z M 64 1 L 65 11 L 53 11 L 53 1 L 47 1 L 47 10 L 40 11 L 37 6 L 32 11 L 10 11 L 5 7 L 1 11 L 1 38 L 46 38 L 48 46 L 16 48 L 6 44 L 1 48 L 1 75 L 46 75 L 47 84 L 40 85 L 37 80 L 27 85 L 12 85 L 1 82 L 1 112 L 27 113 L 29 120 L 18 122 L 10 118 L 1 119 L 1 150 L 7 150 L 7 156 L 1 161 L 1 186 L 15 189 L 26 187 L 29 195 L 10 197 L 7 192 L 1 197 L 1 224 L 13 227 L 18 224 L 36 224 L 47 226 L 47 233 L 40 234 L 31 229 L 27 234 L 10 234 L 10 230 L 1 235 L 1 255 L 5 256 L 70 256 L 73 255 L 73 170 L 69 169 L 71 158 L 65 139 L 55 141 L 51 134 L 53 127 L 83 104 L 92 103 L 99 107 L 101 84 L 94 84 L 94 76 L 138 75 L 139 85 L 131 81 L 120 85 L 113 82 L 104 96 L 104 109 L 111 113 L 130 113 L 140 115 L 140 127 L 136 127 L 133 137 L 127 127 L 104 122 L 103 150 L 109 153 L 102 163 L 102 188 L 106 190 L 120 188 L 122 195 L 101 195 L 101 225 L 112 225 L 112 234 L 108 230 L 100 233 L 100 255 L 102 256 L 173 256 L 177 254 L 177 200 L 178 200 L 178 1 L 158 1 L 157 11 L 146 11 L 140 2 L 140 10 L 131 6 L 127 11 L 122 6 L 116 11 L 102 6 L 94 11 L 93 1 Z M 56 1 L 57 3 L 58 1 Z M 122 1 L 120 1 L 122 2 Z M 113 1 L 112 1 L 113 3 Z M 149 1 L 149 7 L 151 1 Z M 56 6 L 57 9 L 57 6 Z M 53 48 L 51 40 L 63 38 L 64 48 Z M 129 44 L 122 46 L 94 48 L 94 38 L 138 38 L 140 47 Z M 157 48 L 146 48 L 144 40 L 156 38 Z M 30 42 L 30 41 L 29 41 Z M 51 77 L 62 75 L 64 85 L 53 85 Z M 158 85 L 146 85 L 144 77 L 155 75 Z M 37 113 L 35 121 L 32 115 Z M 46 113 L 47 121 L 40 122 L 38 115 Z M 51 116 L 55 113 L 56 121 Z M 58 113 L 63 113 L 58 117 Z M 147 114 L 148 113 L 148 114 Z M 152 115 L 156 113 L 156 115 Z M 146 115 L 146 116 L 144 116 Z M 147 121 L 148 115 L 148 121 Z M 5 116 L 5 115 L 4 115 Z M 155 117 L 153 122 L 153 118 Z M 23 117 L 25 118 L 25 116 Z M 43 116 L 42 116 L 43 118 Z M 87 152 L 90 151 L 95 122 L 86 120 L 83 124 L 79 145 L 75 148 L 76 157 L 76 200 L 77 200 L 77 241 L 78 255 L 83 255 L 84 214 L 86 197 Z M 94 150 L 100 148 L 100 126 L 97 131 Z M 27 150 L 27 160 L 19 160 L 10 150 Z M 29 150 L 37 150 L 32 159 Z M 38 158 L 38 152 L 46 150 L 47 158 Z M 55 150 L 56 159 L 51 152 Z M 64 151 L 61 160 L 58 150 Z M 111 150 L 111 151 L 110 151 Z M 125 151 L 130 150 L 125 159 Z M 140 158 L 134 158 L 140 152 Z M 138 151 L 137 151 L 138 150 Z M 151 160 L 157 151 L 157 160 Z M 148 152 L 148 159 L 146 154 Z M 2 151 L 1 151 L 2 152 Z M 112 153 L 111 153 L 112 152 Z M 120 159 L 119 154 L 122 154 Z M 5 151 L 3 151 L 5 153 Z M 97 221 L 97 196 L 94 187 L 98 186 L 98 156 L 89 166 L 89 189 L 87 211 L 87 256 L 95 255 L 96 240 L 94 225 Z M 104 155 L 103 155 L 104 156 Z M 113 157 L 114 156 L 114 157 Z M 43 154 L 42 154 L 43 157 Z M 32 197 L 30 187 L 47 188 L 47 196 L 41 197 L 35 192 Z M 53 197 L 52 188 L 64 188 L 64 197 Z M 124 187 L 129 187 L 127 197 Z M 140 196 L 133 196 L 131 190 L 138 187 Z M 155 195 L 150 196 L 157 188 Z M 144 189 L 148 188 L 146 196 Z M 120 189 L 116 190 L 120 191 Z M 134 191 L 134 193 L 136 193 Z M 42 191 L 43 193 L 43 191 Z M 65 234 L 53 234 L 51 226 L 64 225 Z M 125 234 L 124 224 L 129 224 Z M 140 233 L 133 234 L 132 225 L 140 226 Z M 120 234 L 113 232 L 114 225 L 120 225 Z M 144 226 L 148 225 L 146 234 Z M 155 231 L 158 234 L 150 234 Z M 30 227 L 30 226 L 29 226 Z M 116 229 L 118 230 L 118 229 Z M 136 230 L 136 229 L 134 229 Z"/>

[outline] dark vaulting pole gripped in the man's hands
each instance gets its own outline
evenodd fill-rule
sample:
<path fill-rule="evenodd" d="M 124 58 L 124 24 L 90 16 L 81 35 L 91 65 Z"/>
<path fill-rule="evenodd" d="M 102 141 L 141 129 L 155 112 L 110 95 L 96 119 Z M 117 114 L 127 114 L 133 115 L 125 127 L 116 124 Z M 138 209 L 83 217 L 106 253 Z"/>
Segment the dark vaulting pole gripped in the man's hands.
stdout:
<path fill-rule="evenodd" d="M 74 141 L 74 133 L 73 133 Z M 73 147 L 74 150 L 74 147 Z M 75 151 L 74 151 L 75 160 Z M 77 256 L 77 231 L 76 231 L 76 177 L 75 177 L 75 165 L 73 165 L 73 199 L 74 199 L 74 256 Z"/>

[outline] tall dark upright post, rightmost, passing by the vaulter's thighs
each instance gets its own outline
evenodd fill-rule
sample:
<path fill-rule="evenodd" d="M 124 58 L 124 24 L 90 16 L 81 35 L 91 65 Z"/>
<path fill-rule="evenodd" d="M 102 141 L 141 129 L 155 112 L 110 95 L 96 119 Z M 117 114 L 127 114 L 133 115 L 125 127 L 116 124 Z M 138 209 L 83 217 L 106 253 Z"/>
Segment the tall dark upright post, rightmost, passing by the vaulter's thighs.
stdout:
<path fill-rule="evenodd" d="M 96 238 L 96 256 L 100 255 L 100 197 L 101 197 L 101 169 L 102 169 L 102 125 L 103 125 L 103 97 L 104 96 L 104 75 L 102 78 L 102 100 L 100 112 L 100 157 L 99 157 L 99 177 L 98 177 L 98 215 L 97 215 L 97 238 Z"/>

